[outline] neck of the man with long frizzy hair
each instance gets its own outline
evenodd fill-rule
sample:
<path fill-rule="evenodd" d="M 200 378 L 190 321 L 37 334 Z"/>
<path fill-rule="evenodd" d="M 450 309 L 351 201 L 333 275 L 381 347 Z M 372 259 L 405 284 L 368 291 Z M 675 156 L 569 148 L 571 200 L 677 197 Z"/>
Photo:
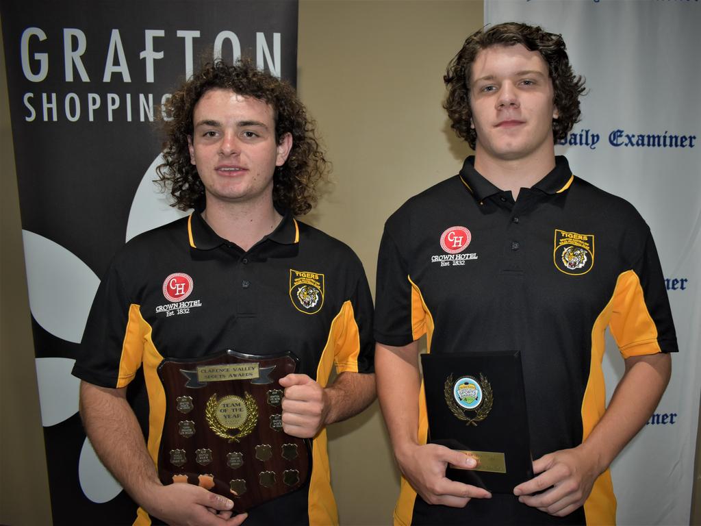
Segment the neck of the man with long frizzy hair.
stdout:
<path fill-rule="evenodd" d="M 207 199 L 207 208 L 202 217 L 217 233 L 217 236 L 236 243 L 245 252 L 270 234 L 283 216 L 267 203 L 222 203 Z"/>

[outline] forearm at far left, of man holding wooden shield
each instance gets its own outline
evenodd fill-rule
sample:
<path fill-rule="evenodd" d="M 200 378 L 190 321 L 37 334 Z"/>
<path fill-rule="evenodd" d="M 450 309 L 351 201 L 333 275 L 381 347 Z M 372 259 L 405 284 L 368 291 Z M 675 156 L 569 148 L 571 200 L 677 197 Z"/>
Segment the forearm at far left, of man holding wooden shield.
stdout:
<path fill-rule="evenodd" d="M 81 382 L 80 412 L 102 464 L 145 507 L 150 490 L 161 483 L 125 389 Z"/>

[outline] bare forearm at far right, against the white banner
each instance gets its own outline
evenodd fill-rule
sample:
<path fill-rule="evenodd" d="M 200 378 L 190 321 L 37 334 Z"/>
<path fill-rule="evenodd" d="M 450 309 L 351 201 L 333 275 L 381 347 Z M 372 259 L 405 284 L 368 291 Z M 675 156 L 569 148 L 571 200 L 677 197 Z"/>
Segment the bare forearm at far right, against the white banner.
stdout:
<path fill-rule="evenodd" d="M 666 353 L 625 360 L 625 373 L 604 416 L 581 446 L 597 459 L 599 473 L 608 468 L 650 418 L 665 392 L 671 370 L 672 360 Z"/>

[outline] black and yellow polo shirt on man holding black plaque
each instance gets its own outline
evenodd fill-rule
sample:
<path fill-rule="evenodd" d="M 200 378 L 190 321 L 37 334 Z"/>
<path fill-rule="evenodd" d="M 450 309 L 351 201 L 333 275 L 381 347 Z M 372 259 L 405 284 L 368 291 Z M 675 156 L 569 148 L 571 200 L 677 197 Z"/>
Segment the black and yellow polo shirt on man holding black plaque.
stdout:
<path fill-rule="evenodd" d="M 677 350 L 650 229 L 632 205 L 572 175 L 564 157 L 516 202 L 468 158 L 459 175 L 409 199 L 386 222 L 376 340 L 402 346 L 426 334 L 432 353 L 520 349 L 534 459 L 582 443 L 604 414 L 606 328 L 624 358 Z M 423 386 L 420 398 L 425 443 Z M 615 522 L 608 471 L 583 510 L 562 519 L 511 495 L 473 499 L 464 509 L 428 506 L 405 480 L 395 509 L 398 524 L 585 518 Z"/>

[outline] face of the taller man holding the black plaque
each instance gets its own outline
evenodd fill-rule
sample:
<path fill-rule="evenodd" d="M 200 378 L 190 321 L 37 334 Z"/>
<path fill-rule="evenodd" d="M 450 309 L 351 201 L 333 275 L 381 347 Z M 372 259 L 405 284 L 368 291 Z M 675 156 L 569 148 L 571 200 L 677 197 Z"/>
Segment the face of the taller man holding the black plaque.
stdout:
<path fill-rule="evenodd" d="M 521 44 L 479 51 L 470 78 L 477 157 L 514 161 L 553 156 L 553 100 L 547 64 L 537 51 Z"/>

